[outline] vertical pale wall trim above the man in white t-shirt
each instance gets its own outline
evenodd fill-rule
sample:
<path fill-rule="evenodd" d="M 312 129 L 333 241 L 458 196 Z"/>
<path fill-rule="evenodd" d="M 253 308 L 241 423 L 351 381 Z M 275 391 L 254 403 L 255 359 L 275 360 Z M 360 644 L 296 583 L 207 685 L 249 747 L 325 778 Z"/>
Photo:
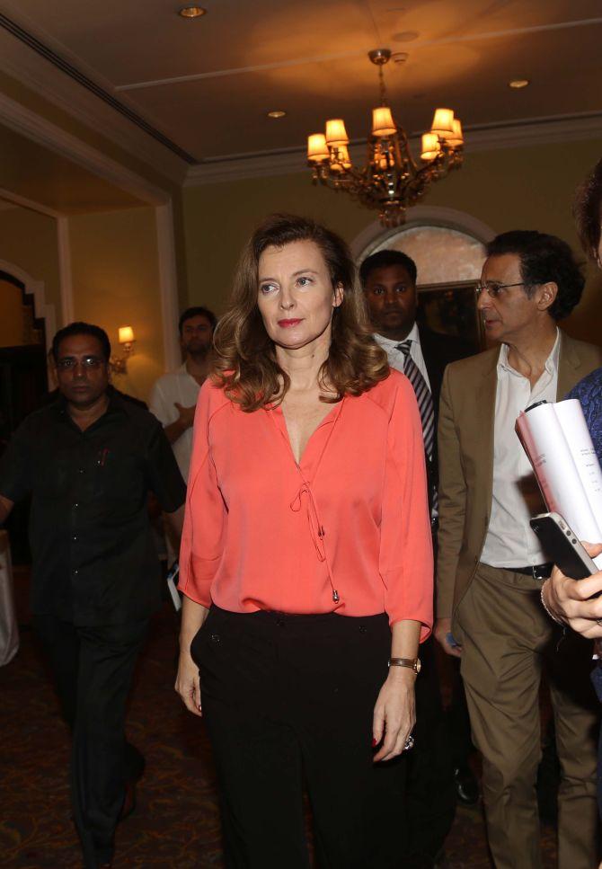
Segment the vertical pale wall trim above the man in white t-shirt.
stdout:
<path fill-rule="evenodd" d="M 181 350 L 178 338 L 180 305 L 171 200 L 155 208 L 155 223 L 159 257 L 161 318 L 163 320 L 164 365 L 166 371 L 174 371 L 181 366 Z"/>

